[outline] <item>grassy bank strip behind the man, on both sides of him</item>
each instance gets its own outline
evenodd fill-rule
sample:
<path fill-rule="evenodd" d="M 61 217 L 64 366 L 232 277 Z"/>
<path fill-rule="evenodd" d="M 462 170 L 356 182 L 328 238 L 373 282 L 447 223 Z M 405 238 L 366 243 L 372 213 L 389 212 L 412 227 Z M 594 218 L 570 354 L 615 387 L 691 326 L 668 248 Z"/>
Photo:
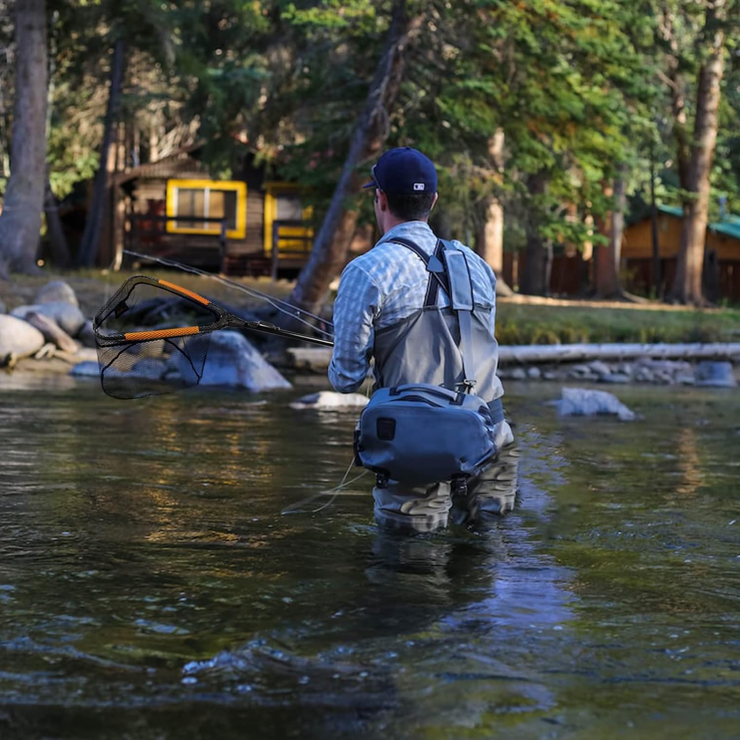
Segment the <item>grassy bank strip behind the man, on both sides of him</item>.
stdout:
<path fill-rule="evenodd" d="M 138 272 L 172 280 L 227 306 L 256 306 L 260 303 L 238 289 L 223 286 L 209 277 L 149 268 Z M 21 303 L 33 301 L 38 289 L 49 280 L 61 278 L 75 289 L 84 313 L 92 316 L 118 286 L 134 274 L 137 273 L 84 270 L 65 275 L 16 275 L 10 282 L 0 281 L 0 300 L 10 311 Z M 287 298 L 292 288 L 291 283 L 272 283 L 265 277 L 238 278 L 237 282 L 281 298 Z M 628 303 L 517 296 L 499 299 L 497 336 L 500 343 L 507 345 L 740 341 L 740 308 L 697 310 L 660 304 L 635 306 Z"/>

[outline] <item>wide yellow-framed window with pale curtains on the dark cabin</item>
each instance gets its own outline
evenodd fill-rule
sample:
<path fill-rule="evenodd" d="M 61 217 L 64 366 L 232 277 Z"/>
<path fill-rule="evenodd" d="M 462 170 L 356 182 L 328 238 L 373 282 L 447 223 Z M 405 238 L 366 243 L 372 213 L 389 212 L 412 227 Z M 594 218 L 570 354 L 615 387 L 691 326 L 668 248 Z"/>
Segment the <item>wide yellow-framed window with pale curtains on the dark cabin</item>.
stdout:
<path fill-rule="evenodd" d="M 175 234 L 218 235 L 221 221 L 226 221 L 226 237 L 243 239 L 246 232 L 246 184 L 218 180 L 168 180 L 167 218 L 167 231 Z"/>

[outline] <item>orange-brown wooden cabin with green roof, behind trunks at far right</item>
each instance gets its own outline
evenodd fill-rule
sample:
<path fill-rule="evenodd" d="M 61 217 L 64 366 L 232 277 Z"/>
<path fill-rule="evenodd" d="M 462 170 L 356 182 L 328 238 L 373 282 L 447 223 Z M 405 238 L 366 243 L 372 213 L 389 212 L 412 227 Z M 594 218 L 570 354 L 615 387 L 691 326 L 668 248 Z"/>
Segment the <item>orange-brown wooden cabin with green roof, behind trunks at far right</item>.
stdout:
<path fill-rule="evenodd" d="M 658 245 L 661 262 L 660 295 L 676 275 L 684 215 L 676 206 L 658 206 Z M 653 289 L 653 237 L 650 215 L 625 229 L 622 273 L 628 290 L 649 295 Z M 707 226 L 704 246 L 704 286 L 711 300 L 740 302 L 740 218 L 725 216 Z"/>

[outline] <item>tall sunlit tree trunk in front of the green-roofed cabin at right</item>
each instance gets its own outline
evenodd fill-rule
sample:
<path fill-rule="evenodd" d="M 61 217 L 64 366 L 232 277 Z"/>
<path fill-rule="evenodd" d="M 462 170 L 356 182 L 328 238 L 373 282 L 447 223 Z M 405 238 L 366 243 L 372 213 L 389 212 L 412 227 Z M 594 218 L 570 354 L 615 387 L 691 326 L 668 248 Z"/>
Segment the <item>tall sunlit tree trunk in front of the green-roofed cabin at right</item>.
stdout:
<path fill-rule="evenodd" d="M 717 140 L 719 83 L 724 55 L 724 28 L 718 13 L 724 9 L 724 4 L 725 0 L 715 0 L 707 5 L 703 36 L 708 53 L 699 68 L 696 119 L 686 186 L 691 199 L 684 203 L 679 260 L 671 289 L 671 297 L 675 300 L 696 305 L 704 301 L 702 266 L 709 219 L 709 175 Z"/>

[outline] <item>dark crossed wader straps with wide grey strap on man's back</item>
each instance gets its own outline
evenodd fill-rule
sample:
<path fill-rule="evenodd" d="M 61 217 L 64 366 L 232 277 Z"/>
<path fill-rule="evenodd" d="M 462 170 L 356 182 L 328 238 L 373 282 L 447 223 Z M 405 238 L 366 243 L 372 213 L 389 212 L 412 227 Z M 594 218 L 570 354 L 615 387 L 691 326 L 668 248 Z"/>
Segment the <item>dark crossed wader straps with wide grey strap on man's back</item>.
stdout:
<path fill-rule="evenodd" d="M 471 281 L 468 262 L 465 255 L 445 243 L 442 239 L 437 240 L 437 247 L 433 255 L 428 255 L 417 244 L 411 240 L 395 237 L 389 239 L 401 246 L 406 246 L 419 257 L 426 266 L 429 283 L 424 298 L 424 306 L 437 305 L 437 292 L 440 286 L 450 298 L 451 309 L 457 315 L 457 323 L 460 326 L 460 355 L 462 357 L 462 391 L 471 393 L 475 387 L 473 369 L 473 324 L 471 312 L 473 311 L 473 283 Z"/>

